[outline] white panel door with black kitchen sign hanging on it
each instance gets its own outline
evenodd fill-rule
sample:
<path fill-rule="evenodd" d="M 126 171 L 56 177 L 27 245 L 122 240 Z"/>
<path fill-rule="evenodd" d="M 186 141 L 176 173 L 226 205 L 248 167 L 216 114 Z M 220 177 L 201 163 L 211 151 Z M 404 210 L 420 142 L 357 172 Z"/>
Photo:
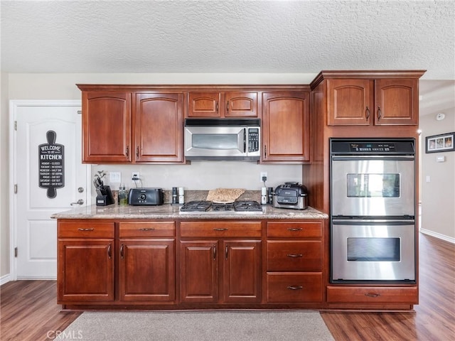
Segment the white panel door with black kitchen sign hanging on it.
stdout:
<path fill-rule="evenodd" d="M 81 108 L 80 103 L 24 102 L 11 101 L 16 277 L 56 278 L 57 222 L 50 215 L 90 200 L 90 170 L 81 157 Z"/>

